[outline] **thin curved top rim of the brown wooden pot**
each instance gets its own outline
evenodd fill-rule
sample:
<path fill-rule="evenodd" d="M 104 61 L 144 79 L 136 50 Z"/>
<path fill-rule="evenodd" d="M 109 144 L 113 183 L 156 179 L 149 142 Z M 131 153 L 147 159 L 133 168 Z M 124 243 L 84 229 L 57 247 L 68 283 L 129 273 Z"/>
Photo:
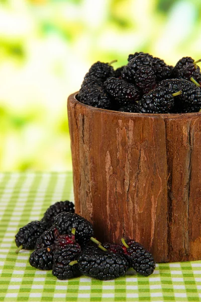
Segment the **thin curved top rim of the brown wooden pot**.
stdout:
<path fill-rule="evenodd" d="M 87 108 L 91 111 L 97 111 L 97 112 L 103 112 L 107 113 L 109 115 L 119 115 L 119 116 L 130 116 L 130 117 L 156 117 L 156 118 L 184 118 L 184 117 L 197 117 L 201 116 L 201 112 L 189 112 L 189 113 L 136 113 L 136 112 L 122 112 L 122 111 L 116 111 L 116 110 L 109 110 L 109 109 L 103 109 L 103 108 L 97 108 L 90 105 L 86 105 L 84 103 L 79 102 L 76 99 L 76 96 L 79 91 L 76 91 L 69 95 L 68 100 L 73 101 L 74 103 L 78 104 L 81 107 Z"/>

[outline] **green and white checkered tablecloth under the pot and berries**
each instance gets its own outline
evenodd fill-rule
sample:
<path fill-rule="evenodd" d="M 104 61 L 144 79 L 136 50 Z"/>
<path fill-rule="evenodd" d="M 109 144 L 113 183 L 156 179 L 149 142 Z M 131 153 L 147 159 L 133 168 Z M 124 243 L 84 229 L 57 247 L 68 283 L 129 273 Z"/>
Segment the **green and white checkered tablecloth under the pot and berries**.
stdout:
<path fill-rule="evenodd" d="M 60 281 L 29 265 L 30 251 L 15 253 L 15 234 L 40 219 L 49 205 L 73 200 L 72 173 L 0 174 L 1 301 L 201 301 L 201 261 L 158 264 L 149 277 Z"/>

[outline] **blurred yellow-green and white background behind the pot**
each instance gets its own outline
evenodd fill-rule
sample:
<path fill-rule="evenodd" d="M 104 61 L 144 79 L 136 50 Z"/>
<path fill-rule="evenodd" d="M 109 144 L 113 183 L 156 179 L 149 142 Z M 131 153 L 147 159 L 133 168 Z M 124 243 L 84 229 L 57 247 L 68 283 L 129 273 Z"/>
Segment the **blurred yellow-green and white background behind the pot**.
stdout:
<path fill-rule="evenodd" d="M 198 59 L 200 28 L 200 0 L 0 0 L 0 170 L 70 170 L 66 99 L 90 65 Z"/>

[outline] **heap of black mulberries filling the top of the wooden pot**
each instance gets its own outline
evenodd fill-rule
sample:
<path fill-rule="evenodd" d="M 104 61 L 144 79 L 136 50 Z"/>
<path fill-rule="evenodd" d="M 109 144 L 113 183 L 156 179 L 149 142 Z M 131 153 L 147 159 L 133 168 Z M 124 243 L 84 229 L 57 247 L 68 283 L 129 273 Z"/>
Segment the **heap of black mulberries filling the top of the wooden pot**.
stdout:
<path fill-rule="evenodd" d="M 191 57 L 176 65 L 144 52 L 128 57 L 128 64 L 114 70 L 96 62 L 86 73 L 78 101 L 98 108 L 137 113 L 187 113 L 201 108 L 201 73 Z"/>

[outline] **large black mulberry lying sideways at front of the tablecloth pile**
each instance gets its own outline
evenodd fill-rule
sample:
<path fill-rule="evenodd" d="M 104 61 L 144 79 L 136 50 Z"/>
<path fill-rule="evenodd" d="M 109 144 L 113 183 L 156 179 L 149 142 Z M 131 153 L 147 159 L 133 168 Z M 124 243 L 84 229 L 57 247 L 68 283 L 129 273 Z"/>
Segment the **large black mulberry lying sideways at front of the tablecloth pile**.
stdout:
<path fill-rule="evenodd" d="M 70 265 L 74 266 L 74 263 L 78 263 L 78 269 L 83 275 L 99 280 L 111 280 L 124 276 L 128 270 L 128 261 L 125 257 L 97 248 L 84 250 L 77 261 Z"/>

